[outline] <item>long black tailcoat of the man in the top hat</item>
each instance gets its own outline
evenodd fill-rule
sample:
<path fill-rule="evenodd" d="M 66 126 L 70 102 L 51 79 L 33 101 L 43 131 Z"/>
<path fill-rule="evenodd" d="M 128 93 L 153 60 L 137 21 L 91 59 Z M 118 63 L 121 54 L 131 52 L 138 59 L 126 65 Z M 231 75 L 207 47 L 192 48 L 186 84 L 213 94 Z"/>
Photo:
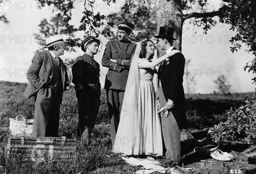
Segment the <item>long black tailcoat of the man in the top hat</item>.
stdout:
<path fill-rule="evenodd" d="M 176 48 L 173 48 L 176 50 Z M 185 58 L 182 53 L 176 53 L 169 57 L 169 61 L 163 61 L 158 70 L 158 80 L 161 81 L 163 94 L 166 99 L 174 102 L 172 111 L 180 129 L 187 128 L 185 112 L 185 95 L 183 89 L 183 74 Z"/>

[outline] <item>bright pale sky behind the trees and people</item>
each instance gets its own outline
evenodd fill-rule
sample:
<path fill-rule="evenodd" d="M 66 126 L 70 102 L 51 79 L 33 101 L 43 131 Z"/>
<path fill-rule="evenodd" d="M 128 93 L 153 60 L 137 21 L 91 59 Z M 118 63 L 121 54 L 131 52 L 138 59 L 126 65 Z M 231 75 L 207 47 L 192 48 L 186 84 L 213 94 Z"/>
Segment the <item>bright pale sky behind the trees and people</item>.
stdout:
<path fill-rule="evenodd" d="M 209 10 L 218 8 L 221 3 L 219 0 L 212 0 L 209 4 Z M 102 14 L 110 14 L 113 11 L 119 11 L 124 1 L 117 0 L 115 4 L 108 6 L 102 1 L 96 1 L 94 11 L 100 11 Z M 71 24 L 79 26 L 82 17 L 84 0 L 75 1 L 73 9 L 73 18 Z M 41 20 L 57 14 L 53 6 L 38 8 L 38 3 L 33 0 L 9 0 L 3 1 L 0 7 L 0 15 L 5 14 L 9 24 L 0 22 L 0 80 L 28 83 L 26 71 L 31 64 L 34 52 L 40 48 L 38 40 L 34 36 L 38 33 Z M 132 21 L 131 21 L 132 22 Z M 232 85 L 231 92 L 250 92 L 256 87 L 252 84 L 253 74 L 244 71 L 247 62 L 253 59 L 253 55 L 246 52 L 247 47 L 232 53 L 232 46 L 229 40 L 236 33 L 230 31 L 230 26 L 217 23 L 210 29 L 207 35 L 199 28 L 195 33 L 193 27 L 186 22 L 183 26 L 182 53 L 186 59 L 191 59 L 186 72 L 190 77 L 194 77 L 196 84 L 195 93 L 212 93 L 215 88 L 214 80 L 218 76 L 224 75 Z M 67 36 L 62 36 L 64 39 Z M 76 33 L 76 37 L 83 39 L 83 33 Z M 95 60 L 101 65 L 101 59 L 105 50 L 107 39 L 102 39 L 102 48 L 95 55 Z M 81 48 L 75 48 L 76 52 L 65 53 L 61 59 L 75 59 L 83 54 Z M 108 68 L 101 66 L 100 82 L 104 87 L 105 75 Z M 255 76 L 255 75 L 254 75 Z M 154 80 L 155 81 L 155 80 Z M 186 88 L 185 84 L 183 86 Z"/>

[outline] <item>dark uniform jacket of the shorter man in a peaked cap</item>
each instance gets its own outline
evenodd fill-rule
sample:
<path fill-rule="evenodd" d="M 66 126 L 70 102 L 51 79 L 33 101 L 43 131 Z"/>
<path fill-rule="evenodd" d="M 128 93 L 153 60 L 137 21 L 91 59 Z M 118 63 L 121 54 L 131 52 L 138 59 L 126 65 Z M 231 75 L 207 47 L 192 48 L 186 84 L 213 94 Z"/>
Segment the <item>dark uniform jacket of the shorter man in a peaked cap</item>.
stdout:
<path fill-rule="evenodd" d="M 77 57 L 72 67 L 72 82 L 75 84 L 75 89 L 84 87 L 85 90 L 93 88 L 100 91 L 99 71 L 99 64 L 93 60 L 93 56 L 85 53 Z"/>

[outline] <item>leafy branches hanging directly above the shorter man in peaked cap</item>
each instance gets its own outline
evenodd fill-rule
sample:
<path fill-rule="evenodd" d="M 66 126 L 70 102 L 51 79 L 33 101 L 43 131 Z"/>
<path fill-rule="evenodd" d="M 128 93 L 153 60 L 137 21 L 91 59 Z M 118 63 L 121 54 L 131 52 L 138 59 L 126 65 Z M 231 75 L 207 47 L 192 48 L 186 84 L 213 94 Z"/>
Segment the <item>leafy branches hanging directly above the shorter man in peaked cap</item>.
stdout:
<path fill-rule="evenodd" d="M 75 1 L 76 0 L 38 0 L 38 3 L 41 8 L 53 5 L 60 11 L 60 16 L 63 17 L 62 24 L 65 26 L 66 33 L 70 36 L 70 39 L 74 37 L 74 34 L 77 31 L 83 31 L 84 37 L 89 35 L 99 37 L 100 34 L 103 36 L 110 36 L 112 34 L 110 28 L 111 24 L 106 25 L 104 22 L 106 16 L 101 15 L 99 11 L 96 14 L 94 13 L 95 0 L 84 1 L 83 17 L 80 20 L 79 27 L 75 28 L 73 25 L 70 25 L 69 22 L 72 19 L 72 9 L 74 9 Z M 115 1 L 116 0 L 103 0 L 103 2 L 107 4 L 115 3 Z M 78 43 L 76 44 L 80 46 Z"/>

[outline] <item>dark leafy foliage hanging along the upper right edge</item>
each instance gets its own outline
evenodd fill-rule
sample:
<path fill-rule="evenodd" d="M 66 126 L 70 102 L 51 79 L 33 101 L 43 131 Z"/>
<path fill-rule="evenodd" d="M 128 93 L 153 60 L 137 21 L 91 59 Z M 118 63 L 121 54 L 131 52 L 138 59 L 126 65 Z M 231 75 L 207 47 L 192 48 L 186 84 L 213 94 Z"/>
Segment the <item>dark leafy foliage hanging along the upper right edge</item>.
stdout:
<path fill-rule="evenodd" d="M 241 48 L 241 42 L 246 44 L 249 52 L 255 56 L 251 62 L 248 62 L 244 70 L 256 73 L 256 1 L 255 0 L 229 0 L 228 4 L 223 6 L 226 15 L 220 18 L 221 22 L 231 25 L 231 30 L 237 34 L 233 36 L 230 42 L 233 44 L 231 51 L 237 51 Z M 253 79 L 256 82 L 256 77 Z"/>

